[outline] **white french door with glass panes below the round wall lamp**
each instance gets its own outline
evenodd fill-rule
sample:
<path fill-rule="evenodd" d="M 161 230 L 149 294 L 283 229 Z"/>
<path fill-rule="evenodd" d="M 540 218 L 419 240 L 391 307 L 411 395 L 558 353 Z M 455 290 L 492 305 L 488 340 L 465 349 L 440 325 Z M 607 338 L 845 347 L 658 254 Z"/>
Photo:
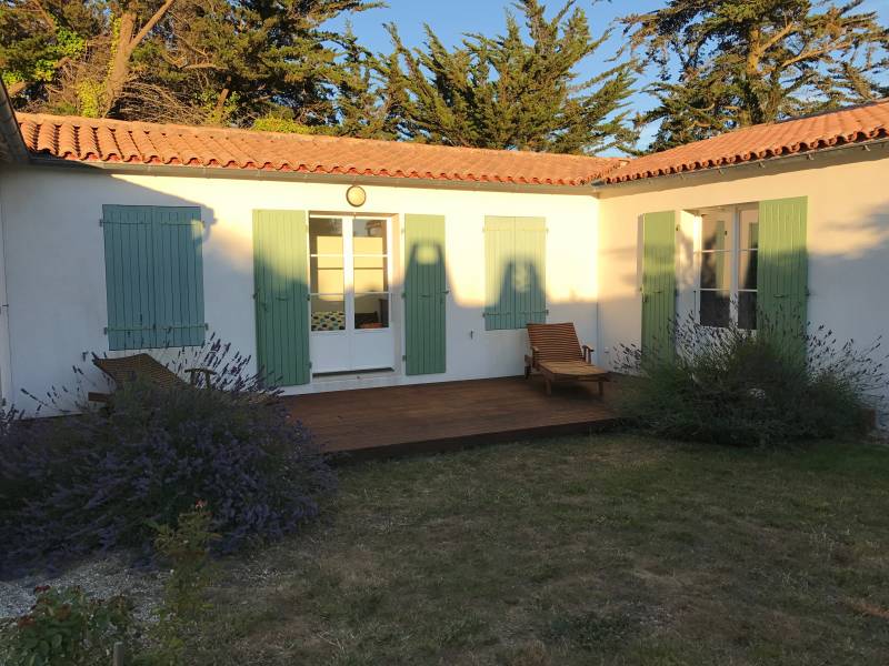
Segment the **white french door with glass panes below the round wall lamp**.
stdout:
<path fill-rule="evenodd" d="M 394 367 L 388 218 L 309 216 L 312 374 Z"/>

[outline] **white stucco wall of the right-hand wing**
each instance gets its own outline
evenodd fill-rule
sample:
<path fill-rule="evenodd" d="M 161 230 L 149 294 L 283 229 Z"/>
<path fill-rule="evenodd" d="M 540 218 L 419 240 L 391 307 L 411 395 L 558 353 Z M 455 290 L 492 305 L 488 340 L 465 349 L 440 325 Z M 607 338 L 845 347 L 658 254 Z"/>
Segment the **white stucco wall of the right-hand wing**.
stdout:
<path fill-rule="evenodd" d="M 822 153 L 812 160 L 652 179 L 599 192 L 599 344 L 609 363 L 641 335 L 641 215 L 808 196 L 809 320 L 841 340 L 889 334 L 889 149 Z M 679 216 L 678 307 L 693 304 L 693 216 Z"/>

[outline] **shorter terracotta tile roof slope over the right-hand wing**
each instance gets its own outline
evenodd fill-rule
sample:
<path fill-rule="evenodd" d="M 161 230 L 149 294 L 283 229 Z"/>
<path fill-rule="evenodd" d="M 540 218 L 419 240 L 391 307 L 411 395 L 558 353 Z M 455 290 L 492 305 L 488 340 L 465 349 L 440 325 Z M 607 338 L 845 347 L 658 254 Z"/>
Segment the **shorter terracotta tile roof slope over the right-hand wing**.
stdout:
<path fill-rule="evenodd" d="M 655 178 L 889 137 L 889 100 L 755 125 L 630 161 L 606 183 Z"/>

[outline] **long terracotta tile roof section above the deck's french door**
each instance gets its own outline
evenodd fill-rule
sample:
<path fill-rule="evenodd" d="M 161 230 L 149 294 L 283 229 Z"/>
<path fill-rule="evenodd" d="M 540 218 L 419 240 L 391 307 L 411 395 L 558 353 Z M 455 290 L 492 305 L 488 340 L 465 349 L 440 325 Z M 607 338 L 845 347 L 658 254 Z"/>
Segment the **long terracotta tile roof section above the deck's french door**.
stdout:
<path fill-rule="evenodd" d="M 582 185 L 619 160 L 19 113 L 32 154 L 81 162 Z"/>

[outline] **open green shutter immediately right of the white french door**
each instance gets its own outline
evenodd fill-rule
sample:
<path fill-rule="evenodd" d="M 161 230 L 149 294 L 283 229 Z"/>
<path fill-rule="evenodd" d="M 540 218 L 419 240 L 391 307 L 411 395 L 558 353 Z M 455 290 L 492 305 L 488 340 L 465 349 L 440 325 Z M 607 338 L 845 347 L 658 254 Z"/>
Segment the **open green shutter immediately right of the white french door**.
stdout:
<path fill-rule="evenodd" d="M 404 215 L 404 356 L 409 375 L 446 371 L 444 218 Z"/>

